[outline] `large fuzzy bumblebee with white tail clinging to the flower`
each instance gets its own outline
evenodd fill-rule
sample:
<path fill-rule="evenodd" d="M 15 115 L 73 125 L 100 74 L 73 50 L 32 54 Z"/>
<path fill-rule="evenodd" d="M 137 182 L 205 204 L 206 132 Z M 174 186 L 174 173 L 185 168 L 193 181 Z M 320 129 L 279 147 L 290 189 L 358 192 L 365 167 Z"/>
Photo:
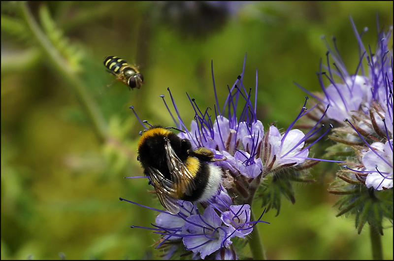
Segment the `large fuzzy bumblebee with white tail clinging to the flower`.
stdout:
<path fill-rule="evenodd" d="M 222 170 L 211 162 L 221 160 L 213 159 L 213 153 L 206 148 L 193 150 L 188 139 L 168 129 L 175 128 L 152 126 L 142 132 L 137 160 L 162 205 L 177 214 L 178 199 L 202 202 L 217 192 Z"/>

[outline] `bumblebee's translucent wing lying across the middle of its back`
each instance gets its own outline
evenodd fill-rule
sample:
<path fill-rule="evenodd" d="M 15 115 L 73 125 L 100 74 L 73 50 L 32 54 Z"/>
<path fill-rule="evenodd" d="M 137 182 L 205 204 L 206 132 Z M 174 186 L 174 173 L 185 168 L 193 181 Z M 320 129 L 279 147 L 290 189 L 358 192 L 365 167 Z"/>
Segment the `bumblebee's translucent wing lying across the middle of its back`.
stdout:
<path fill-rule="evenodd" d="M 169 139 L 165 139 L 164 149 L 167 157 L 167 167 L 171 173 L 172 181 L 177 185 L 178 190 L 182 194 L 191 196 L 192 192 L 197 189 L 192 173 L 190 173 L 186 165 L 175 154 Z"/>

